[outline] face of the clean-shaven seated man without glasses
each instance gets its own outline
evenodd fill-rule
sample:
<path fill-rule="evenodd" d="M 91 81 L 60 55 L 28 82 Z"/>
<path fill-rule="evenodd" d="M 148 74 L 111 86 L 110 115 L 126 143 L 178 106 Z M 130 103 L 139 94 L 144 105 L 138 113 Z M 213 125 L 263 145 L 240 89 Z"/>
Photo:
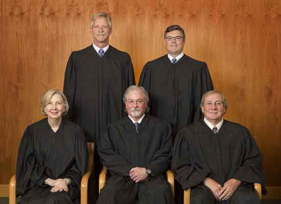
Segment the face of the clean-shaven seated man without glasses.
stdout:
<path fill-rule="evenodd" d="M 205 118 L 214 125 L 219 123 L 225 114 L 222 97 L 219 93 L 213 93 L 204 98 L 204 106 L 201 107 Z"/>

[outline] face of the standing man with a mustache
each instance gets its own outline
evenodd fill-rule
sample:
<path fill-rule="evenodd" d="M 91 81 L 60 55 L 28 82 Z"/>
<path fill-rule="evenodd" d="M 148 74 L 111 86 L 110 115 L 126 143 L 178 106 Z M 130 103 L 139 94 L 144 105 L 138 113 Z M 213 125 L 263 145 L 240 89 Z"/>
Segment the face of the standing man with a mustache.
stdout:
<path fill-rule="evenodd" d="M 93 37 L 93 43 L 96 45 L 100 43 L 108 44 L 111 28 L 105 17 L 98 17 L 93 20 L 90 32 Z"/>

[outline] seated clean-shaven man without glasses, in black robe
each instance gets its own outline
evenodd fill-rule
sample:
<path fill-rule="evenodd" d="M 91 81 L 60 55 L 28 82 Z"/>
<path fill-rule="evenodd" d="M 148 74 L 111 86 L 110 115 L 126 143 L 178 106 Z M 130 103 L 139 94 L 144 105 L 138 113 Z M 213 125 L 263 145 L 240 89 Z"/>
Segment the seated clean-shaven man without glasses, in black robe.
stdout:
<path fill-rule="evenodd" d="M 263 158 L 249 130 L 223 119 L 227 104 L 218 91 L 201 99 L 204 119 L 182 129 L 175 141 L 172 170 L 191 203 L 262 203 L 253 183 L 262 184 Z"/>

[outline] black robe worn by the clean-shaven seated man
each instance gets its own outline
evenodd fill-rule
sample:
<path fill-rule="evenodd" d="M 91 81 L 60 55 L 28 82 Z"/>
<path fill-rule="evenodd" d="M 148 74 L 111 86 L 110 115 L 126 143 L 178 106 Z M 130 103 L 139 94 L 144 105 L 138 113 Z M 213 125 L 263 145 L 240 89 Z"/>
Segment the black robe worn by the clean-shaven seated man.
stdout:
<path fill-rule="evenodd" d="M 260 183 L 266 193 L 262 162 L 260 149 L 245 126 L 224 120 L 214 134 L 201 119 L 179 131 L 172 170 L 184 190 L 210 177 L 221 186 L 229 179 Z"/>

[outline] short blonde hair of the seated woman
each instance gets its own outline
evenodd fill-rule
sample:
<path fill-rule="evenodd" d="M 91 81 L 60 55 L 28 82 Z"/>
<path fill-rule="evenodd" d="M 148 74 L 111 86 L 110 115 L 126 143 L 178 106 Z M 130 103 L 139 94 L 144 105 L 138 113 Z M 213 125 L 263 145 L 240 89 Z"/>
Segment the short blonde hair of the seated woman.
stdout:
<path fill-rule="evenodd" d="M 40 98 L 40 107 L 41 107 L 42 115 L 47 115 L 46 112 L 44 111 L 44 107 L 46 105 L 48 105 L 48 103 L 50 102 L 51 98 L 55 94 L 59 94 L 61 96 L 62 102 L 63 102 L 63 106 L 65 106 L 65 110 L 64 110 L 62 115 L 66 115 L 68 113 L 69 105 L 68 105 L 68 101 L 67 101 L 67 98 L 65 97 L 65 95 L 62 92 L 60 92 L 58 89 L 50 89 L 44 95 L 42 95 L 41 98 Z"/>

